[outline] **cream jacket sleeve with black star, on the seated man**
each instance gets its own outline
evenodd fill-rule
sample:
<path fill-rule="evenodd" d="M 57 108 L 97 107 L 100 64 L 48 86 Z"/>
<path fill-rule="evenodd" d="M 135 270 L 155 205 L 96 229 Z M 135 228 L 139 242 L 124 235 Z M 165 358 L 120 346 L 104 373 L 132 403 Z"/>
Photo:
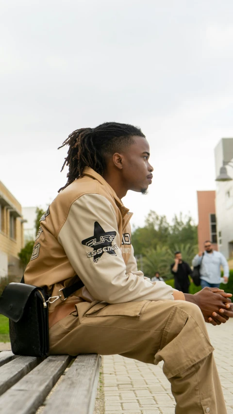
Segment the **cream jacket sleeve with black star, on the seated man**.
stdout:
<path fill-rule="evenodd" d="M 139 300 L 173 300 L 164 282 L 151 283 L 126 269 L 121 254 L 116 213 L 99 194 L 74 201 L 58 241 L 77 275 L 96 300 L 123 303 Z"/>

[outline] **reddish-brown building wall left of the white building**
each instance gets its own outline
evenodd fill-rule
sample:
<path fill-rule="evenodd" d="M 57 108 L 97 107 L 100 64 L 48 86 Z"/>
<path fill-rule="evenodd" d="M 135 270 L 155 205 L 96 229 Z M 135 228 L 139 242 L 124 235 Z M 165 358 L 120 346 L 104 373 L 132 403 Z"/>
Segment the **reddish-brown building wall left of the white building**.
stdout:
<path fill-rule="evenodd" d="M 198 247 L 203 251 L 206 240 L 212 241 L 211 215 L 216 214 L 215 191 L 198 191 Z M 214 226 L 214 225 L 213 225 Z M 214 230 L 214 228 L 212 228 Z M 217 250 L 217 243 L 213 243 L 213 248 Z"/>

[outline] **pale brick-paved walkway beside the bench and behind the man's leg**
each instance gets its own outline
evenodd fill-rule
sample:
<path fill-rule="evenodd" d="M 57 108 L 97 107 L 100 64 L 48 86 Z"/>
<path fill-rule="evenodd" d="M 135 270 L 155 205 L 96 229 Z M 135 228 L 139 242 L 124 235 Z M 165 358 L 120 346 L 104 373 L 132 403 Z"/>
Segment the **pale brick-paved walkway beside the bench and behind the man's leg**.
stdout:
<path fill-rule="evenodd" d="M 233 320 L 207 325 L 228 414 L 233 414 Z M 174 414 L 170 383 L 159 365 L 118 355 L 103 357 L 105 414 Z"/>

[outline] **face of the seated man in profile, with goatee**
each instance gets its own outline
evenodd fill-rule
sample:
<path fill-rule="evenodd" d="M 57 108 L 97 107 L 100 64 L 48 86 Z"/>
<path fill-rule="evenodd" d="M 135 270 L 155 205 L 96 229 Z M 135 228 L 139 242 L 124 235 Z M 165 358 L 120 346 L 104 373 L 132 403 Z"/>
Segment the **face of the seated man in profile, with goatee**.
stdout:
<path fill-rule="evenodd" d="M 150 147 L 144 137 L 135 136 L 133 141 L 122 152 L 123 179 L 129 190 L 145 194 L 153 178 L 153 167 L 149 163 Z"/>

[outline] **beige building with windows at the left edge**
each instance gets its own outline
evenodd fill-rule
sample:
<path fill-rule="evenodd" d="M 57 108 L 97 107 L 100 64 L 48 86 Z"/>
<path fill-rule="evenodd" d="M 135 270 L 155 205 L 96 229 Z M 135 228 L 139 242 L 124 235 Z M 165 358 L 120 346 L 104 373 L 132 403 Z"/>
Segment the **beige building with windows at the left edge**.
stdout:
<path fill-rule="evenodd" d="M 21 205 L 0 182 L 0 277 L 22 276 L 18 253 L 23 247 Z"/>

